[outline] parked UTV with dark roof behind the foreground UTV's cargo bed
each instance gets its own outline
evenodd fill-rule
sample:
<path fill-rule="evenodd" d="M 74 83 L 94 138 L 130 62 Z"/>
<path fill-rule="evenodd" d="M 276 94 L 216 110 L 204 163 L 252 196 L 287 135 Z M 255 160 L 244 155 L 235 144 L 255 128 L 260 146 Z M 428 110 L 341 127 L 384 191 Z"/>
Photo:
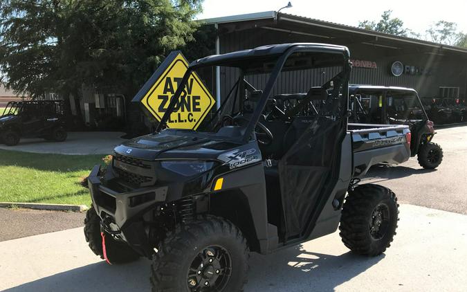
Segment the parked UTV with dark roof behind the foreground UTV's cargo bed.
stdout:
<path fill-rule="evenodd" d="M 351 117 L 354 122 L 408 125 L 410 149 L 425 169 L 434 169 L 443 160 L 443 149 L 433 143 L 434 123 L 428 118 L 414 89 L 393 86 L 351 85 Z M 432 107 L 430 107 L 430 110 Z M 435 109 L 437 110 L 437 109 Z"/>

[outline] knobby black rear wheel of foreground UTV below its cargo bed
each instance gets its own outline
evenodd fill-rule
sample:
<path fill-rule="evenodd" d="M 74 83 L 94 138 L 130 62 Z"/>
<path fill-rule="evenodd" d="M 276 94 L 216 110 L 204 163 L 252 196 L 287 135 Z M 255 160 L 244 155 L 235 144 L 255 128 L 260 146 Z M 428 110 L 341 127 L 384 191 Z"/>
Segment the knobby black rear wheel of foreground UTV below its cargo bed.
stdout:
<path fill-rule="evenodd" d="M 394 192 L 381 185 L 358 185 L 342 208 L 340 237 L 361 255 L 381 255 L 396 235 L 399 204 Z"/>

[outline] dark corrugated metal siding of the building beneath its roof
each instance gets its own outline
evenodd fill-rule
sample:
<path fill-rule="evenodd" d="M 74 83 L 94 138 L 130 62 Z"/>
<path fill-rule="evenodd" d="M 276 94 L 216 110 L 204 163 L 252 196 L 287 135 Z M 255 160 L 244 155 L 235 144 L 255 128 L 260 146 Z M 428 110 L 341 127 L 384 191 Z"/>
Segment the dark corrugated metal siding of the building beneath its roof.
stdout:
<path fill-rule="evenodd" d="M 313 31 L 309 33 L 313 33 Z M 220 36 L 221 53 L 255 48 L 266 44 L 289 42 L 324 42 L 333 44 L 332 39 L 283 33 L 262 28 L 241 30 Z M 461 95 L 466 94 L 467 66 L 459 66 L 459 61 L 455 57 L 436 54 L 423 55 L 415 52 L 409 55 L 407 53 L 405 55 L 398 55 L 397 50 L 372 47 L 365 44 L 350 44 L 348 47 L 351 51 L 352 59 L 375 61 L 378 66 L 377 69 L 354 68 L 351 73 L 351 83 L 410 87 L 419 91 L 421 96 L 426 97 L 436 96 L 439 92 L 439 86 L 459 86 Z M 400 77 L 394 77 L 390 73 L 390 66 L 394 61 L 424 67 L 425 69 L 430 69 L 432 73 L 430 75 L 403 74 Z M 309 75 L 307 74 L 309 73 L 296 72 L 287 78 L 283 78 L 281 80 L 282 83 L 276 85 L 275 91 L 277 92 L 280 89 L 298 92 L 306 89 L 306 86 L 309 86 L 309 84 L 302 82 L 309 80 Z M 226 96 L 226 93 L 235 82 L 231 80 L 236 80 L 236 77 L 238 75 L 232 69 L 221 69 L 221 96 Z M 248 78 L 252 78 L 251 80 L 254 80 L 252 82 L 256 84 L 264 84 L 266 82 L 266 75 Z M 322 84 L 322 76 L 314 75 L 313 78 L 312 84 Z"/>

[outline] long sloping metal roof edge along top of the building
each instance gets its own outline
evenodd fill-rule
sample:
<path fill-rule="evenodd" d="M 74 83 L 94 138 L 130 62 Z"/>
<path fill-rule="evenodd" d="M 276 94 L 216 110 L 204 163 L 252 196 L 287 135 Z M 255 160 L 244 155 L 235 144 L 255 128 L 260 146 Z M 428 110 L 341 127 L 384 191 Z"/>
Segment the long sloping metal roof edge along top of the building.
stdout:
<path fill-rule="evenodd" d="M 355 26 L 347 26 L 345 24 L 336 24 L 329 21 L 323 21 L 320 19 L 312 19 L 310 17 L 302 17 L 299 15 L 291 15 L 283 12 L 265 11 L 250 13 L 245 15 L 231 15 L 226 17 L 216 17 L 210 19 L 200 19 L 203 24 L 227 24 L 238 21 L 255 21 L 260 19 L 278 19 L 279 21 L 289 21 L 296 24 L 304 24 L 309 26 L 317 26 L 322 28 L 329 28 L 333 30 L 340 30 L 348 33 L 357 33 L 360 35 L 371 35 L 374 37 L 381 37 L 383 39 L 390 39 L 396 42 L 405 42 L 410 44 L 417 44 L 421 46 L 430 46 L 432 48 L 445 49 L 449 51 L 457 51 L 460 53 L 467 53 L 467 48 L 459 48 L 456 46 L 448 46 L 445 44 L 437 44 L 434 42 L 428 42 L 421 39 L 414 39 L 412 37 L 401 37 L 399 35 L 390 35 L 387 33 L 380 33 L 375 30 L 367 30 L 364 28 L 356 28 Z"/>

